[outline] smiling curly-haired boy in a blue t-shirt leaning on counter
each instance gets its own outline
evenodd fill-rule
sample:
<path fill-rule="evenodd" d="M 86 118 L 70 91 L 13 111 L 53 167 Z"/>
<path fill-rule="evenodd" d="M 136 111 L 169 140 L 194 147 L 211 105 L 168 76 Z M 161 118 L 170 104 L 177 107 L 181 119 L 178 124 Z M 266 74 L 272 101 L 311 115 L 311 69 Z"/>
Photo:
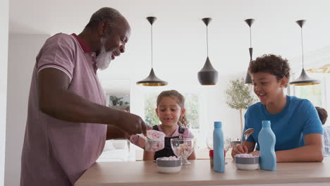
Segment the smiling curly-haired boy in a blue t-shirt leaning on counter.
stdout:
<path fill-rule="evenodd" d="M 259 144 L 254 149 L 262 120 L 270 120 L 276 136 L 277 162 L 322 161 L 323 130 L 315 107 L 307 99 L 283 93 L 290 77 L 288 61 L 281 56 L 264 55 L 251 61 L 249 73 L 260 102 L 247 109 L 244 131 L 253 128 L 255 132 L 245 139 L 244 147 L 234 147 L 231 155 L 259 155 Z"/>

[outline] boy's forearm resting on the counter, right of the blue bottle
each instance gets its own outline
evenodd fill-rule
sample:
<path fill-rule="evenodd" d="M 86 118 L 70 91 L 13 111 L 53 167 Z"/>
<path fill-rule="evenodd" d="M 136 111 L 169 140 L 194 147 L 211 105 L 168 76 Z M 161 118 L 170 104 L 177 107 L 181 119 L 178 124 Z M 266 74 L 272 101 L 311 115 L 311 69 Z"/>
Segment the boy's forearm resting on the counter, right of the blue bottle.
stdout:
<path fill-rule="evenodd" d="M 305 146 L 285 151 L 276 151 L 277 162 L 323 161 L 322 146 Z"/>

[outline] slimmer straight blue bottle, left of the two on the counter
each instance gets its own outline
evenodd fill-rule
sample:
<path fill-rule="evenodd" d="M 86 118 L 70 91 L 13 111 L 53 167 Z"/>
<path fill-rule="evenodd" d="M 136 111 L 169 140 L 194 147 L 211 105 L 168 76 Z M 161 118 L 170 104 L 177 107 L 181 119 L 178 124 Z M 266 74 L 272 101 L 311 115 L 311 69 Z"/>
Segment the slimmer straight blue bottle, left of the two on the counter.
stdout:
<path fill-rule="evenodd" d="M 214 121 L 213 149 L 214 171 L 224 173 L 224 132 L 221 121 Z"/>

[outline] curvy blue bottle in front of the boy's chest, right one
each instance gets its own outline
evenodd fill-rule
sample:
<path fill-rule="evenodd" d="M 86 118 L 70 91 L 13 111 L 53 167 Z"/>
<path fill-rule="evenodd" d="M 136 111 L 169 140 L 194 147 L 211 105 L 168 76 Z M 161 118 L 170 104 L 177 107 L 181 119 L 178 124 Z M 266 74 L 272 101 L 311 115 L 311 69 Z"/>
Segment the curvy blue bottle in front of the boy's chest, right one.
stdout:
<path fill-rule="evenodd" d="M 276 171 L 275 142 L 276 137 L 271 130 L 270 120 L 262 121 L 262 130 L 259 132 L 259 163 L 260 168 L 267 171 Z"/>

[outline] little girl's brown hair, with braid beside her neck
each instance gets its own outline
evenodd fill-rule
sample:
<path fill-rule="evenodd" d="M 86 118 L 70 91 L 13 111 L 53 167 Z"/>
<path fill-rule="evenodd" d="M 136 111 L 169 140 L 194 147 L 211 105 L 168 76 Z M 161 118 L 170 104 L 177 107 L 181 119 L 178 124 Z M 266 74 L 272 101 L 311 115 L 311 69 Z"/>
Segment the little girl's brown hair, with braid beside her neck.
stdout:
<path fill-rule="evenodd" d="M 174 99 L 176 101 L 176 103 L 181 107 L 181 109 L 185 109 L 185 97 L 183 97 L 182 94 L 180 94 L 178 91 L 176 91 L 174 89 L 163 91 L 158 95 L 157 108 L 158 108 L 158 105 L 159 105 L 161 99 L 163 99 L 164 97 L 171 97 L 172 99 Z M 180 125 L 181 127 L 184 127 L 184 128 L 187 127 L 188 120 L 185 117 L 185 115 L 183 115 L 179 118 L 178 125 Z"/>

